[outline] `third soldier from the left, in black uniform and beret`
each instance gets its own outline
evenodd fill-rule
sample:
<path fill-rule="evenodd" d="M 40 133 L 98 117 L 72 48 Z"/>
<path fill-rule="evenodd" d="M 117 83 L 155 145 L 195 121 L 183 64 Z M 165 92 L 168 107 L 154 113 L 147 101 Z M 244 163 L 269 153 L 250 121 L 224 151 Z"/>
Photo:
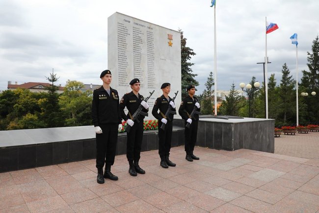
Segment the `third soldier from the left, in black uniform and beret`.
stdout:
<path fill-rule="evenodd" d="M 171 149 L 172 131 L 173 131 L 173 114 L 169 114 L 169 120 L 165 117 L 165 113 L 169 107 L 172 106 L 172 111 L 176 111 L 176 107 L 172 98 L 168 96 L 171 91 L 170 83 L 164 83 L 160 87 L 163 94 L 158 97 L 154 103 L 152 115 L 159 120 L 159 154 L 160 154 L 160 166 L 168 168 L 168 166 L 176 166 L 175 163 L 169 160 L 169 151 Z M 158 111 L 160 110 L 160 113 Z M 162 130 L 160 126 L 165 123 L 165 129 Z"/>

